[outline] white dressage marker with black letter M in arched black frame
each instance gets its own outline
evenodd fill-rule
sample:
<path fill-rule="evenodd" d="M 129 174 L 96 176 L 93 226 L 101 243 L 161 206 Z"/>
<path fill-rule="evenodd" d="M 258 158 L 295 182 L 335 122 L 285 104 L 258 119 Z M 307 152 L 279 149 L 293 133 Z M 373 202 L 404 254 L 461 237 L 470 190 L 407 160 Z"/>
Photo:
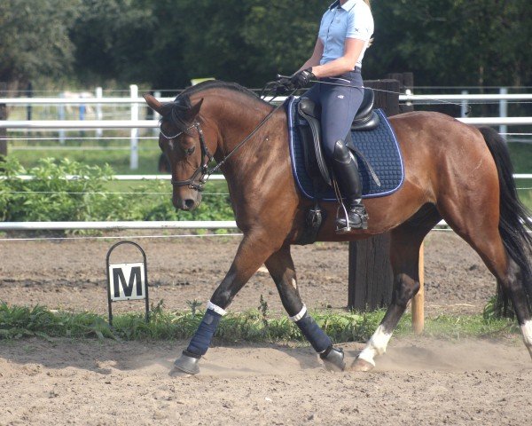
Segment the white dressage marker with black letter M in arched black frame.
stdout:
<path fill-rule="evenodd" d="M 138 249 L 143 256 L 143 262 L 109 264 L 109 258 L 114 248 L 122 244 L 130 244 Z M 150 319 L 150 304 L 148 298 L 148 269 L 146 254 L 136 242 L 120 241 L 109 248 L 106 257 L 107 272 L 107 302 L 109 305 L 109 325 L 113 326 L 113 302 L 121 300 L 145 300 L 145 319 Z"/>

